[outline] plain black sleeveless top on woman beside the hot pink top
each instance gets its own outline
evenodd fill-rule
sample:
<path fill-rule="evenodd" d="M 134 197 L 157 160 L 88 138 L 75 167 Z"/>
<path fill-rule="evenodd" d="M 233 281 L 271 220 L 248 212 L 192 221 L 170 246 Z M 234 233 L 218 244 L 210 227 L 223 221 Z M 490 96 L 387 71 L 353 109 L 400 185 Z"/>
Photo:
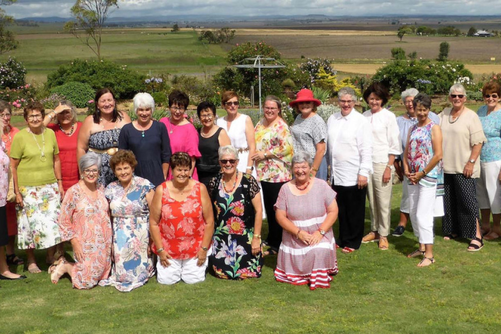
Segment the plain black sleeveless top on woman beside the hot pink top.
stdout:
<path fill-rule="evenodd" d="M 198 181 L 202 182 L 207 189 L 210 180 L 216 177 L 221 170 L 219 155 L 217 154 L 217 150 L 219 150 L 219 133 L 221 130 L 222 128 L 217 129 L 209 138 L 202 137 L 200 134 L 202 129 L 197 130 L 198 151 L 202 156 L 196 159 L 196 170 L 198 172 Z"/>

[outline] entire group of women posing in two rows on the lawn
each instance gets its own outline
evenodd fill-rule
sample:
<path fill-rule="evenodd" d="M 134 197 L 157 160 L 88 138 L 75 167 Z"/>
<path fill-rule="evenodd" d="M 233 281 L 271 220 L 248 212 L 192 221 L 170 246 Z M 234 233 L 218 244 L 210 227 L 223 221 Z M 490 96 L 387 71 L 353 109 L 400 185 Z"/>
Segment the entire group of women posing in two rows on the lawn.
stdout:
<path fill-rule="evenodd" d="M 437 116 L 427 95 L 409 89 L 402 93 L 407 113 L 396 118 L 384 108 L 383 85 L 364 92 L 370 109 L 363 114 L 354 109 L 355 92 L 343 88 L 341 112 L 326 124 L 316 113 L 321 102 L 303 89 L 290 103 L 298 113 L 291 127 L 279 98 L 265 98 L 254 126 L 227 91 L 223 118 L 212 103 L 198 105 L 199 130 L 185 117 L 189 98 L 180 91 L 169 95 L 170 116 L 159 121 L 147 93 L 134 97 L 134 121 L 117 110 L 109 89 L 96 93 L 95 111 L 82 123 L 69 101 L 47 115 L 32 103 L 21 131 L 0 102 L 0 167 L 12 172 L 0 178 L 0 278 L 26 278 L 9 271 L 23 263 L 14 253 L 17 235 L 30 272 L 41 271 L 34 249 L 48 249 L 51 280 L 68 274 L 76 288 L 130 291 L 155 272 L 160 283 L 195 283 L 209 263 L 219 278 L 260 277 L 263 257 L 274 254 L 278 281 L 328 287 L 337 247 L 351 253 L 378 241 L 388 249 L 394 171 L 404 190 L 393 235 L 410 219 L 419 242 L 408 257 L 421 256 L 419 266 L 435 262 L 433 217 L 442 215 L 444 239 L 471 238 L 468 250 L 479 250 L 482 234 L 501 235 L 499 90 L 485 85 L 477 115 L 455 84 L 452 108 Z M 9 188 L 15 204 L 7 203 Z M 371 230 L 363 236 L 366 195 Z M 66 241 L 75 262 L 64 256 Z"/>

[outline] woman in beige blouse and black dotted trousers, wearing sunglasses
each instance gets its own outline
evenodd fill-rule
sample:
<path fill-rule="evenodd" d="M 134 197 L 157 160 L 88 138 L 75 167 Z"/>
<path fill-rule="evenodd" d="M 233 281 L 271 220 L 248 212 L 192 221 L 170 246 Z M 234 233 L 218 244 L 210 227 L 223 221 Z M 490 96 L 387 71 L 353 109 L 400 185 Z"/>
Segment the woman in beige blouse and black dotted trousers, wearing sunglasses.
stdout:
<path fill-rule="evenodd" d="M 470 238 L 468 251 L 483 247 L 476 201 L 476 180 L 480 177 L 478 156 L 486 138 L 477 114 L 466 108 L 466 90 L 454 84 L 449 90 L 451 108 L 438 117 L 442 130 L 445 240 Z"/>

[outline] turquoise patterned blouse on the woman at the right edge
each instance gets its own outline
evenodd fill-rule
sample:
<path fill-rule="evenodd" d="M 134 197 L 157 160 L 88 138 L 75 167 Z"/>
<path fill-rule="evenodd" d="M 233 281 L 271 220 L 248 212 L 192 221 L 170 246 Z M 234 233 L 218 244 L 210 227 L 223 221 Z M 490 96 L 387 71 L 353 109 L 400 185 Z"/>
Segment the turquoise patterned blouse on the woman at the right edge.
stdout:
<path fill-rule="evenodd" d="M 487 106 L 478 108 L 478 118 L 482 123 L 483 133 L 487 142 L 483 143 L 480 161 L 492 162 L 501 160 L 501 110 L 487 115 Z"/>

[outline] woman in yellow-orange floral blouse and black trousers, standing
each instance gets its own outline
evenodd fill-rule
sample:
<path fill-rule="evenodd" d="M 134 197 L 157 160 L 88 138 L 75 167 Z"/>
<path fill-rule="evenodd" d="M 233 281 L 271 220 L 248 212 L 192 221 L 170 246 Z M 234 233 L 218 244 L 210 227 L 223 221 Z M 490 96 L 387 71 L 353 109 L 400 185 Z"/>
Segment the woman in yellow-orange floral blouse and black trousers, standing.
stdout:
<path fill-rule="evenodd" d="M 292 136 L 289 126 L 282 118 L 282 101 L 273 95 L 265 98 L 265 117 L 256 125 L 256 162 L 258 180 L 261 181 L 266 215 L 268 216 L 268 244 L 266 255 L 277 254 L 282 242 L 282 227 L 275 219 L 273 206 L 280 188 L 292 180 Z"/>

